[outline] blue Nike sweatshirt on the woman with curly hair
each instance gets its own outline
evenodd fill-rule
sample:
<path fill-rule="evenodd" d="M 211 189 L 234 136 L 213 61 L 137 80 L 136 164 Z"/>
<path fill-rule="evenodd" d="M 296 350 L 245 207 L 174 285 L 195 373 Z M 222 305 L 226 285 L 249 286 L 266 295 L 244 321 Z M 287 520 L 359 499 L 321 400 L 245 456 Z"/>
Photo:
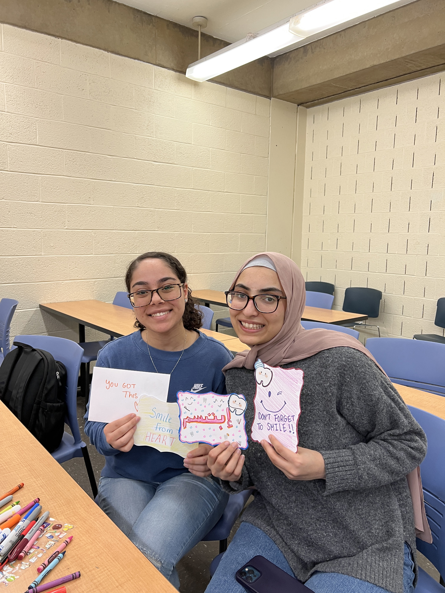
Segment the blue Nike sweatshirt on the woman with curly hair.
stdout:
<path fill-rule="evenodd" d="M 167 374 L 171 373 L 181 353 L 152 347 L 150 352 L 158 372 Z M 221 369 L 232 358 L 221 342 L 200 332 L 199 338 L 184 351 L 179 364 L 170 375 L 167 401 L 177 401 L 178 391 L 214 391 L 225 394 L 225 378 Z M 96 366 L 156 372 L 140 331 L 107 343 L 98 353 Z M 88 407 L 85 414 L 85 419 L 87 418 Z M 104 422 L 85 422 L 85 433 L 106 460 L 101 476 L 160 483 L 188 471 L 184 467 L 183 458 L 176 453 L 160 452 L 147 445 L 133 445 L 127 453 L 113 449 L 106 441 L 103 432 L 105 426 Z"/>

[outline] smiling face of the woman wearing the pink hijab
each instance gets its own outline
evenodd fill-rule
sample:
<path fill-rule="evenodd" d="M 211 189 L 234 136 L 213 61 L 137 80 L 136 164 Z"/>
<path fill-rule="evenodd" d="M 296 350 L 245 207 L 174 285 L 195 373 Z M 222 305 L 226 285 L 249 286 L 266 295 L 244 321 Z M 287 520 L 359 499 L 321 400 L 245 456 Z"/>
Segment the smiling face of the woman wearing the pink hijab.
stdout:
<path fill-rule="evenodd" d="M 278 275 L 268 267 L 248 267 L 240 273 L 234 290 L 243 292 L 249 297 L 258 294 L 271 294 L 285 297 Z M 255 346 L 269 342 L 278 334 L 284 323 L 286 299 L 279 299 L 278 308 L 274 313 L 260 313 L 253 301 L 249 301 L 243 311 L 230 311 L 230 320 L 237 336 L 247 346 Z"/>

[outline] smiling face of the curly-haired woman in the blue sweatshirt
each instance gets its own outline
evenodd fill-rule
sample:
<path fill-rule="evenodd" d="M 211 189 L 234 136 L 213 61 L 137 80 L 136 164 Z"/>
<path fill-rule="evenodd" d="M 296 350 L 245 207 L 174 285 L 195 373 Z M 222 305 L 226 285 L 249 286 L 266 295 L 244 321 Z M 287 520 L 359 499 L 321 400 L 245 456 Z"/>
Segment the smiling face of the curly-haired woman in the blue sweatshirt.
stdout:
<path fill-rule="evenodd" d="M 134 270 L 130 282 L 130 292 L 141 289 L 153 290 L 169 284 L 180 284 L 180 282 L 164 260 L 147 258 L 142 260 Z M 183 326 L 182 315 L 185 310 L 185 294 L 187 294 L 186 283 L 181 288 L 181 296 L 175 301 L 163 301 L 154 292 L 149 305 L 134 309 L 136 319 L 148 331 L 168 333 L 176 330 L 178 326 Z"/>

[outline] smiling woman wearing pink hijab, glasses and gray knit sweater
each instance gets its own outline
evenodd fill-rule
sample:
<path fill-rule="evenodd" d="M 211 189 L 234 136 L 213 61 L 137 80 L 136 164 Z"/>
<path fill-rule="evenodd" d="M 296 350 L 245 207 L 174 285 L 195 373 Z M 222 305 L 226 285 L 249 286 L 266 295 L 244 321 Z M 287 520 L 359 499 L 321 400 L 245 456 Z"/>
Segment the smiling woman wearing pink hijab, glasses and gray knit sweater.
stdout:
<path fill-rule="evenodd" d="M 425 456 L 424 432 L 358 340 L 301 327 L 305 299 L 300 269 L 278 253 L 248 260 L 227 292 L 233 327 L 250 346 L 223 369 L 227 393 L 246 398 L 249 447 L 218 445 L 208 466 L 226 492 L 256 493 L 206 593 L 244 591 L 235 573 L 256 555 L 316 593 L 411 593 L 406 476 Z M 277 366 L 301 369 L 282 396 L 297 408 L 300 398 L 296 452 L 286 435 L 258 442 L 252 432 L 256 408 L 279 412 L 273 382 L 264 389 Z M 266 395 L 254 403 L 259 388 Z"/>

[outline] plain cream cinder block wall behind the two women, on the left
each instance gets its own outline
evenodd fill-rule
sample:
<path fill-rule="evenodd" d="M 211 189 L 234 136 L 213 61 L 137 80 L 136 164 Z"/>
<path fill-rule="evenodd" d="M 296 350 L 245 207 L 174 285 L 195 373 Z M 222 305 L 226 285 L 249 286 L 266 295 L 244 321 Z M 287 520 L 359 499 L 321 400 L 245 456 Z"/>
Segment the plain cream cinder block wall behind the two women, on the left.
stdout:
<path fill-rule="evenodd" d="M 226 289 L 265 247 L 270 101 L 0 33 L 0 298 L 20 303 L 12 335 L 75 338 L 39 303 L 111 301 L 144 251 L 179 257 L 192 288 Z"/>

